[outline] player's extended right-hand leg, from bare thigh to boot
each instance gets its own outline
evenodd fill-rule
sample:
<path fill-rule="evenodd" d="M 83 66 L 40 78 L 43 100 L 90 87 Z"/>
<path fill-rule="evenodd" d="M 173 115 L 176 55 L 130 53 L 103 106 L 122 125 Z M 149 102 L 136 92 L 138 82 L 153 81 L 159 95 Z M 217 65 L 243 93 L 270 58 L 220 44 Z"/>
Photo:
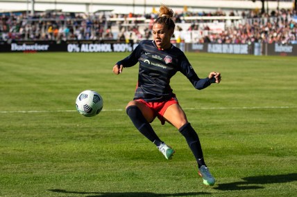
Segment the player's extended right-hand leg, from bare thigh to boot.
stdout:
<path fill-rule="evenodd" d="M 185 115 L 183 109 L 179 104 L 171 104 L 167 107 L 163 117 L 165 120 L 167 120 L 167 122 L 170 122 L 173 126 L 176 126 L 178 131 L 180 131 L 180 133 L 187 140 L 187 144 L 189 145 L 189 148 L 191 149 L 198 163 L 198 172 L 203 178 L 203 183 L 205 185 L 214 185 L 215 180 L 205 165 L 203 151 L 198 135 L 191 124 L 187 121 L 187 116 Z"/>

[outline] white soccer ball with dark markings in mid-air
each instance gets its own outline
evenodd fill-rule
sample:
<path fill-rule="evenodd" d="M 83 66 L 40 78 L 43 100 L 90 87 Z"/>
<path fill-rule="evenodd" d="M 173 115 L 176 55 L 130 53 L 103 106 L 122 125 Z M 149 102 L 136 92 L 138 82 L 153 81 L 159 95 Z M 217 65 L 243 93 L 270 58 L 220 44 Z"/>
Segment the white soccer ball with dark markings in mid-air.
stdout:
<path fill-rule="evenodd" d="M 76 110 L 87 117 L 100 113 L 103 108 L 103 99 L 96 91 L 83 91 L 76 98 Z"/>

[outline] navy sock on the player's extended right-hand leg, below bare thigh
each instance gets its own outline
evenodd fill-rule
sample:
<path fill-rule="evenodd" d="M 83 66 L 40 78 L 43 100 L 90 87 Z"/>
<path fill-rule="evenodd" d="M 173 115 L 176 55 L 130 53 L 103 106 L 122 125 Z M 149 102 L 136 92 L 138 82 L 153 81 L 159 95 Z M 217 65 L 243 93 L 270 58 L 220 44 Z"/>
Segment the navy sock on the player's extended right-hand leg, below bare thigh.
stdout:
<path fill-rule="evenodd" d="M 180 131 L 180 133 L 182 133 L 182 135 L 187 140 L 187 144 L 189 145 L 189 148 L 191 149 L 192 153 L 194 154 L 194 157 L 196 158 L 198 167 L 201 167 L 201 165 L 205 165 L 200 140 L 191 124 L 189 124 L 189 122 L 184 124 L 182 127 L 180 127 L 180 129 L 178 129 L 178 131 Z"/>

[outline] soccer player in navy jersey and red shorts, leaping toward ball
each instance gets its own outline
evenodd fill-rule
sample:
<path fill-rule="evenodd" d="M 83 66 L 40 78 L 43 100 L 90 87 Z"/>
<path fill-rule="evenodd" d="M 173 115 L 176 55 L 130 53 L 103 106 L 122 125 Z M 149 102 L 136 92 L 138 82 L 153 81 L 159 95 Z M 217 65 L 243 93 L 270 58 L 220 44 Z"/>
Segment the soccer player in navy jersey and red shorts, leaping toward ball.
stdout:
<path fill-rule="evenodd" d="M 212 83 L 219 84 L 221 74 L 211 72 L 208 77 L 199 78 L 183 51 L 170 42 L 175 28 L 172 19 L 173 10 L 161 5 L 159 12 L 158 19 L 153 23 L 153 40 L 140 41 L 128 57 L 114 65 L 112 71 L 119 75 L 123 68 L 134 66 L 139 62 L 135 97 L 126 106 L 126 113 L 130 120 L 168 160 L 171 159 L 174 151 L 158 137 L 150 123 L 158 117 L 162 124 L 169 122 L 175 126 L 187 140 L 196 158 L 198 174 L 203 178 L 203 183 L 214 185 L 215 179 L 205 164 L 198 135 L 178 104 L 169 82 L 171 77 L 180 71 L 196 89 L 201 90 Z"/>

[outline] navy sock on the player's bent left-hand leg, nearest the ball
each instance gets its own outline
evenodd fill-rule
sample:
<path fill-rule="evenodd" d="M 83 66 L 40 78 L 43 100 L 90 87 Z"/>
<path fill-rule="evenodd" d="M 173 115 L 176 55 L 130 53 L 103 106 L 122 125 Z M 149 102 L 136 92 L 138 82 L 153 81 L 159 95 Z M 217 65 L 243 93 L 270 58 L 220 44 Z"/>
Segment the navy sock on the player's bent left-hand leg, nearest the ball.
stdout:
<path fill-rule="evenodd" d="M 137 106 L 132 105 L 127 107 L 126 113 L 128 114 L 130 120 L 133 122 L 136 129 L 138 129 L 138 131 L 140 131 L 142 135 L 148 138 L 148 140 L 150 140 L 157 147 L 159 147 L 162 141 L 155 133 L 155 131 L 153 131 L 151 124 L 149 124 L 146 121 L 146 118 L 144 118 L 142 111 L 140 111 L 140 109 Z"/>

